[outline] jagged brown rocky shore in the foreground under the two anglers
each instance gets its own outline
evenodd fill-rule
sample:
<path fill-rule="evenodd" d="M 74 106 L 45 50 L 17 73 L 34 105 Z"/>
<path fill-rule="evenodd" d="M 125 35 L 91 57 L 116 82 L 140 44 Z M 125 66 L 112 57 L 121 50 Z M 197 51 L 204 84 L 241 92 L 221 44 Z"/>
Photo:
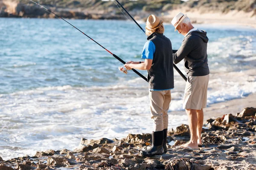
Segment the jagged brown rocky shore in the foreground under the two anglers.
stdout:
<path fill-rule="evenodd" d="M 75 150 L 47 150 L 6 161 L 0 157 L 0 170 L 255 170 L 256 108 L 208 119 L 199 150 L 175 148 L 188 140 L 187 125 L 169 130 L 168 152 L 148 158 L 138 153 L 151 144 L 151 134 L 82 138 Z"/>

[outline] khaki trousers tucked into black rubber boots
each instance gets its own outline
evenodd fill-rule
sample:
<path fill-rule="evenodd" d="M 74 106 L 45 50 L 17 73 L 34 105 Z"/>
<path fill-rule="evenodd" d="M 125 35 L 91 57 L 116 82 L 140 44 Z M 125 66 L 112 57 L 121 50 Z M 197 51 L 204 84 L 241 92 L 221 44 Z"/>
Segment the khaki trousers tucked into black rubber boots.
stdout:
<path fill-rule="evenodd" d="M 168 110 L 172 96 L 171 90 L 149 91 L 151 119 L 154 122 L 154 132 L 168 128 Z"/>

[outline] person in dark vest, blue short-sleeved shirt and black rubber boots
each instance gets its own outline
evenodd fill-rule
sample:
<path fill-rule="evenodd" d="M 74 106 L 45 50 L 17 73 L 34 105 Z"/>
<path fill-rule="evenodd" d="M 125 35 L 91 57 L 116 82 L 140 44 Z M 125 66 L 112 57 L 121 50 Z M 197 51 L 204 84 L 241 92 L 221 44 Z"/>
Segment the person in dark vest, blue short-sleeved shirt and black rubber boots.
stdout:
<path fill-rule="evenodd" d="M 125 68 L 148 70 L 149 100 L 154 131 L 152 146 L 147 150 L 141 150 L 140 154 L 154 156 L 167 152 L 167 112 L 171 102 L 171 89 L 174 88 L 172 43 L 163 35 L 163 21 L 155 15 L 148 17 L 145 28 L 148 36 L 142 52 L 145 62 L 130 61 L 125 64 Z"/>

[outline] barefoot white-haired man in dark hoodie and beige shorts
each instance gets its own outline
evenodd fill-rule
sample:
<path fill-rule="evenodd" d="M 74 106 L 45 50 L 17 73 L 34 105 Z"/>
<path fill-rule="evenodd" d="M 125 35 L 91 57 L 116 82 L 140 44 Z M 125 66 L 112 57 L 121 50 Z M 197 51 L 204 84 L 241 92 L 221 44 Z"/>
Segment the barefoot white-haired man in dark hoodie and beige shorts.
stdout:
<path fill-rule="evenodd" d="M 194 28 L 186 14 L 177 14 L 172 25 L 175 31 L 184 35 L 181 47 L 173 50 L 173 62 L 184 59 L 184 68 L 188 74 L 184 93 L 183 108 L 189 119 L 190 141 L 181 148 L 198 149 L 204 121 L 203 108 L 207 106 L 207 87 L 209 67 L 207 60 L 207 32 Z"/>

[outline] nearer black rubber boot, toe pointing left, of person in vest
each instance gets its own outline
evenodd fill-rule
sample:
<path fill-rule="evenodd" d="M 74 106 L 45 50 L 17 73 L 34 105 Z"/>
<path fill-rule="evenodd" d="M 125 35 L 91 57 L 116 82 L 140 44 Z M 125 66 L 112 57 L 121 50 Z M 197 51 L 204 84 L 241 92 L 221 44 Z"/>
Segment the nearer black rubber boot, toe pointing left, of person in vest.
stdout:
<path fill-rule="evenodd" d="M 152 132 L 152 146 L 148 150 L 141 150 L 140 154 L 143 156 L 162 155 L 163 152 L 163 130 Z"/>

